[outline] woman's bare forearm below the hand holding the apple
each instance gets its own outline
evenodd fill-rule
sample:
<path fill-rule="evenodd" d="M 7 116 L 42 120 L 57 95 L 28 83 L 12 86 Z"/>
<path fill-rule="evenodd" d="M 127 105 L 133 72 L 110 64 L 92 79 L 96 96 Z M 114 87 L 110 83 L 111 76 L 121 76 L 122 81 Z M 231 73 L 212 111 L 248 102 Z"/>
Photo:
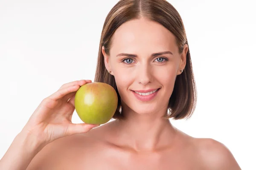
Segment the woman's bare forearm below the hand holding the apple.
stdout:
<path fill-rule="evenodd" d="M 0 170 L 26 170 L 35 155 L 45 145 L 36 136 L 21 131 L 0 160 Z"/>

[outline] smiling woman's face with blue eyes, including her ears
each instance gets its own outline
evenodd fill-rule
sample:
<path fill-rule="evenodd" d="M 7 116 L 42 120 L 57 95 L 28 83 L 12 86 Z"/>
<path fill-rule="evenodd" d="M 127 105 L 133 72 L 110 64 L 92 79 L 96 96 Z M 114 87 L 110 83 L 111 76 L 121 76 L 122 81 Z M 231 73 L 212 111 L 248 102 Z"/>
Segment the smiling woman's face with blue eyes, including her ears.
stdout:
<path fill-rule="evenodd" d="M 122 24 L 112 40 L 109 56 L 104 47 L 102 53 L 107 70 L 115 77 L 122 107 L 138 114 L 166 110 L 188 49 L 179 54 L 174 35 L 146 19 Z"/>

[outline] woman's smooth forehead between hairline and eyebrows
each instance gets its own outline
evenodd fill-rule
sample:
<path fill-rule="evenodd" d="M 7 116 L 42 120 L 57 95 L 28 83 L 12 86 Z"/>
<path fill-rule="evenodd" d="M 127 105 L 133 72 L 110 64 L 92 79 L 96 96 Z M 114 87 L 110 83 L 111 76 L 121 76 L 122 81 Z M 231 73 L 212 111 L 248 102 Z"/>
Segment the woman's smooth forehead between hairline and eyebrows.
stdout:
<path fill-rule="evenodd" d="M 112 38 L 113 51 L 131 48 L 174 48 L 175 36 L 161 24 L 150 20 L 131 20 L 116 29 Z M 163 50 L 164 50 L 163 49 Z M 158 49 L 162 50 L 162 49 Z M 172 49 L 174 50 L 174 49 Z"/>

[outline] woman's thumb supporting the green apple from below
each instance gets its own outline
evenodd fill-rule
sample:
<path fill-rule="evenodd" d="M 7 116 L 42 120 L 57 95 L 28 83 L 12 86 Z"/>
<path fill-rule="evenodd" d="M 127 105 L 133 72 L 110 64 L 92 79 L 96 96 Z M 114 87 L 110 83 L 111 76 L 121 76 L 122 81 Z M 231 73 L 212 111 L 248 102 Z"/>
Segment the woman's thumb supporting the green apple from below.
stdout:
<path fill-rule="evenodd" d="M 79 123 L 79 124 L 71 124 L 67 127 L 67 134 L 73 135 L 76 133 L 86 133 L 94 127 L 98 127 L 99 125 Z"/>

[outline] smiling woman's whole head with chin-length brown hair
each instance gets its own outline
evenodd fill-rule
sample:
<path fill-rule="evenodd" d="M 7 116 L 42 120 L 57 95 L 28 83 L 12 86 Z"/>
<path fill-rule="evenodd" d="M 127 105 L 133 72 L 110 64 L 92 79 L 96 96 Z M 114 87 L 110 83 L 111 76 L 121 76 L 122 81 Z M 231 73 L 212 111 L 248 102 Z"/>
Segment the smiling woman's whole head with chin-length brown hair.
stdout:
<path fill-rule="evenodd" d="M 103 26 L 94 81 L 116 89 L 119 102 L 113 118 L 122 118 L 121 105 L 138 114 L 166 110 L 166 118 L 188 118 L 195 109 L 196 88 L 176 9 L 165 0 L 120 0 Z M 135 91 L 143 90 L 157 91 L 150 95 L 154 98 L 147 93 L 140 100 Z"/>

